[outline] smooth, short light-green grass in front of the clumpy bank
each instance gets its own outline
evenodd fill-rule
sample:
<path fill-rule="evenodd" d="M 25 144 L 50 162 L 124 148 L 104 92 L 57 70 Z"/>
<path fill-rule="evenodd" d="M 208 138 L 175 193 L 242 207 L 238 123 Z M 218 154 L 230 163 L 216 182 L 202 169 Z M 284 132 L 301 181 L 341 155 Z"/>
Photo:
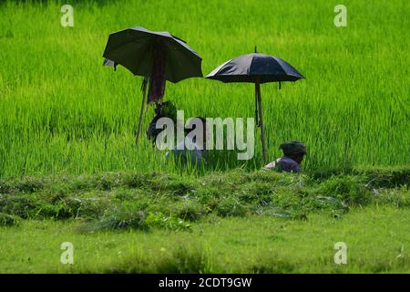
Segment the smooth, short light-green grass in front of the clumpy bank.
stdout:
<path fill-rule="evenodd" d="M 2 227 L 0 272 L 410 273 L 408 209 L 354 209 L 343 219 L 226 218 L 166 230 L 79 234 L 75 221 L 25 221 Z M 74 265 L 60 245 L 74 245 Z M 335 265 L 337 242 L 347 265 Z"/>

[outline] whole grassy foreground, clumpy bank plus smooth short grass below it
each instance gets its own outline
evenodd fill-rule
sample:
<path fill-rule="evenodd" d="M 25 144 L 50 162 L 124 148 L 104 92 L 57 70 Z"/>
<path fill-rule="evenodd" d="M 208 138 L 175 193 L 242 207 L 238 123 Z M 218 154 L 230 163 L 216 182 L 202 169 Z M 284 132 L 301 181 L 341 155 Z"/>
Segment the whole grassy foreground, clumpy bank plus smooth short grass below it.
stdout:
<path fill-rule="evenodd" d="M 408 169 L 6 179 L 1 269 L 408 272 L 408 182 Z M 75 246 L 74 266 L 59 264 L 64 241 Z M 339 241 L 346 266 L 333 263 Z"/>

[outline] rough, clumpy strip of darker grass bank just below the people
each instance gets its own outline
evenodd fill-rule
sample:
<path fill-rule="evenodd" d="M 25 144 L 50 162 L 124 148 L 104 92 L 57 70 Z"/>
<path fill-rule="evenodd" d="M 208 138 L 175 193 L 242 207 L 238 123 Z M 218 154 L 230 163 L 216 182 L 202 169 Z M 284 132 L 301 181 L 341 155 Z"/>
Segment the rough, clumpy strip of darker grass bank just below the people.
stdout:
<path fill-rule="evenodd" d="M 84 231 L 180 230 L 209 216 L 270 214 L 307 219 L 318 211 L 341 217 L 354 206 L 368 204 L 409 207 L 408 169 L 376 172 L 323 179 L 266 170 L 217 172 L 199 178 L 161 172 L 14 177 L 0 180 L 0 212 L 24 219 L 81 219 L 86 222 Z M 403 181 L 390 180 L 392 175 Z M 384 187 L 374 182 L 384 182 Z"/>

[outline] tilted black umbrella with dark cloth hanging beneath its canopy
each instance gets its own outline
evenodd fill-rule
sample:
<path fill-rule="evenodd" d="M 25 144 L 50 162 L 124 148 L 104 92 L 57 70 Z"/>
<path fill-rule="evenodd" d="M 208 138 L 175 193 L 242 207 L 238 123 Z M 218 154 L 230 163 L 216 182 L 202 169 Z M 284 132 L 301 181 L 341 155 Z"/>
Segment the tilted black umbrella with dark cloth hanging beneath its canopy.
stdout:
<path fill-rule="evenodd" d="M 169 32 L 154 32 L 144 27 L 132 27 L 113 33 L 103 57 L 104 65 L 122 65 L 134 75 L 144 76 L 143 99 L 139 113 L 136 141 L 145 103 L 145 89 L 149 82 L 149 102 L 162 99 L 165 80 L 177 83 L 185 78 L 202 77 L 202 58 L 186 42 Z"/>

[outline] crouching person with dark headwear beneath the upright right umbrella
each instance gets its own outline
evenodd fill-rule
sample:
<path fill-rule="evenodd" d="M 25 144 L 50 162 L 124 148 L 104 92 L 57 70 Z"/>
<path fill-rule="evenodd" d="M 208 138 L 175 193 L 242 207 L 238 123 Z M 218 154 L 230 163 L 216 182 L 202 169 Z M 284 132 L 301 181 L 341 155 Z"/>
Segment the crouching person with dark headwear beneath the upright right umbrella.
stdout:
<path fill-rule="evenodd" d="M 279 148 L 282 149 L 283 156 L 268 163 L 265 168 L 279 172 L 300 172 L 300 164 L 306 154 L 306 145 L 300 141 L 290 141 L 282 143 Z"/>

